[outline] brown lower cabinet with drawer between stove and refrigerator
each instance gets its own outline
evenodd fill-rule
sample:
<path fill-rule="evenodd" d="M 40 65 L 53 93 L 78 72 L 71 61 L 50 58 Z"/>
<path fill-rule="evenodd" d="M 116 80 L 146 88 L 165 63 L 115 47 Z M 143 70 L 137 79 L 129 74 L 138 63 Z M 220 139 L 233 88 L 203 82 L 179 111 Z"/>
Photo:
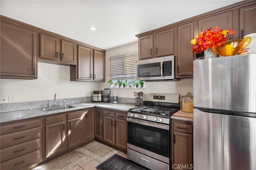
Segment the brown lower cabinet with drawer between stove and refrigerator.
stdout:
<path fill-rule="evenodd" d="M 193 167 L 192 122 L 172 119 L 172 169 Z"/>

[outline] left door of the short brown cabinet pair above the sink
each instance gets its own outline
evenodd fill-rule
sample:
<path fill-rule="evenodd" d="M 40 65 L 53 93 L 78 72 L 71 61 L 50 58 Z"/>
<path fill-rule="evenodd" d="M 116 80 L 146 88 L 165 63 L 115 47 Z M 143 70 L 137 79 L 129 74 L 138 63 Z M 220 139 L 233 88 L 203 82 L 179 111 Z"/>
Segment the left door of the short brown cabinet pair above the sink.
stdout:
<path fill-rule="evenodd" d="M 40 34 L 40 57 L 44 59 L 58 60 L 59 39 L 53 36 Z"/>

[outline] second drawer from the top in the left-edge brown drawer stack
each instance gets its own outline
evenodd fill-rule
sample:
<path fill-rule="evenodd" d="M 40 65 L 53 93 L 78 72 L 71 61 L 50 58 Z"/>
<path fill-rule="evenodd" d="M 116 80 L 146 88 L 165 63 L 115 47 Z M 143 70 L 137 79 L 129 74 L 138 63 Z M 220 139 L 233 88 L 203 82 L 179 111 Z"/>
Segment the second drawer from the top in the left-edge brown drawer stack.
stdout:
<path fill-rule="evenodd" d="M 1 136 L 1 149 L 41 137 L 41 127 Z"/>

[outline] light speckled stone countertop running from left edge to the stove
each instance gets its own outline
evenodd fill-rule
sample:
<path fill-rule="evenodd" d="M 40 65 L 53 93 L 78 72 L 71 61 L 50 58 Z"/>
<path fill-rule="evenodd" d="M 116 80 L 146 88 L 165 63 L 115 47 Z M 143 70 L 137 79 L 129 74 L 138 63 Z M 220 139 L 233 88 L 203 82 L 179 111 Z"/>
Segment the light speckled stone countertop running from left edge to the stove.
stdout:
<path fill-rule="evenodd" d="M 131 107 L 134 107 L 133 104 L 113 104 L 113 103 L 94 103 L 94 102 L 86 102 L 86 103 L 78 103 L 78 104 L 69 104 L 68 106 L 74 106 L 73 108 L 69 109 L 62 109 L 56 111 L 41 111 L 39 109 L 28 109 L 28 110 L 20 110 L 20 111 L 10 111 L 10 112 L 3 112 L 0 113 L 0 123 L 28 119 L 33 117 L 40 117 L 45 115 L 53 115 L 56 113 L 64 113 L 67 111 L 74 111 L 79 109 L 86 109 L 90 107 L 101 107 L 105 109 L 114 109 L 118 111 L 128 111 Z"/>

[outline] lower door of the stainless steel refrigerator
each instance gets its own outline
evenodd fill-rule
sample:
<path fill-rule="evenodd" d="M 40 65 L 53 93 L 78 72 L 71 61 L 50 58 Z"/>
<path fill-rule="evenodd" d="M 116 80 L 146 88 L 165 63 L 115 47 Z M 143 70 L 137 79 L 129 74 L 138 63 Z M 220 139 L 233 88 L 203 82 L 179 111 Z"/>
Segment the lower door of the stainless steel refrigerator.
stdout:
<path fill-rule="evenodd" d="M 194 109 L 194 170 L 255 170 L 256 118 Z"/>

